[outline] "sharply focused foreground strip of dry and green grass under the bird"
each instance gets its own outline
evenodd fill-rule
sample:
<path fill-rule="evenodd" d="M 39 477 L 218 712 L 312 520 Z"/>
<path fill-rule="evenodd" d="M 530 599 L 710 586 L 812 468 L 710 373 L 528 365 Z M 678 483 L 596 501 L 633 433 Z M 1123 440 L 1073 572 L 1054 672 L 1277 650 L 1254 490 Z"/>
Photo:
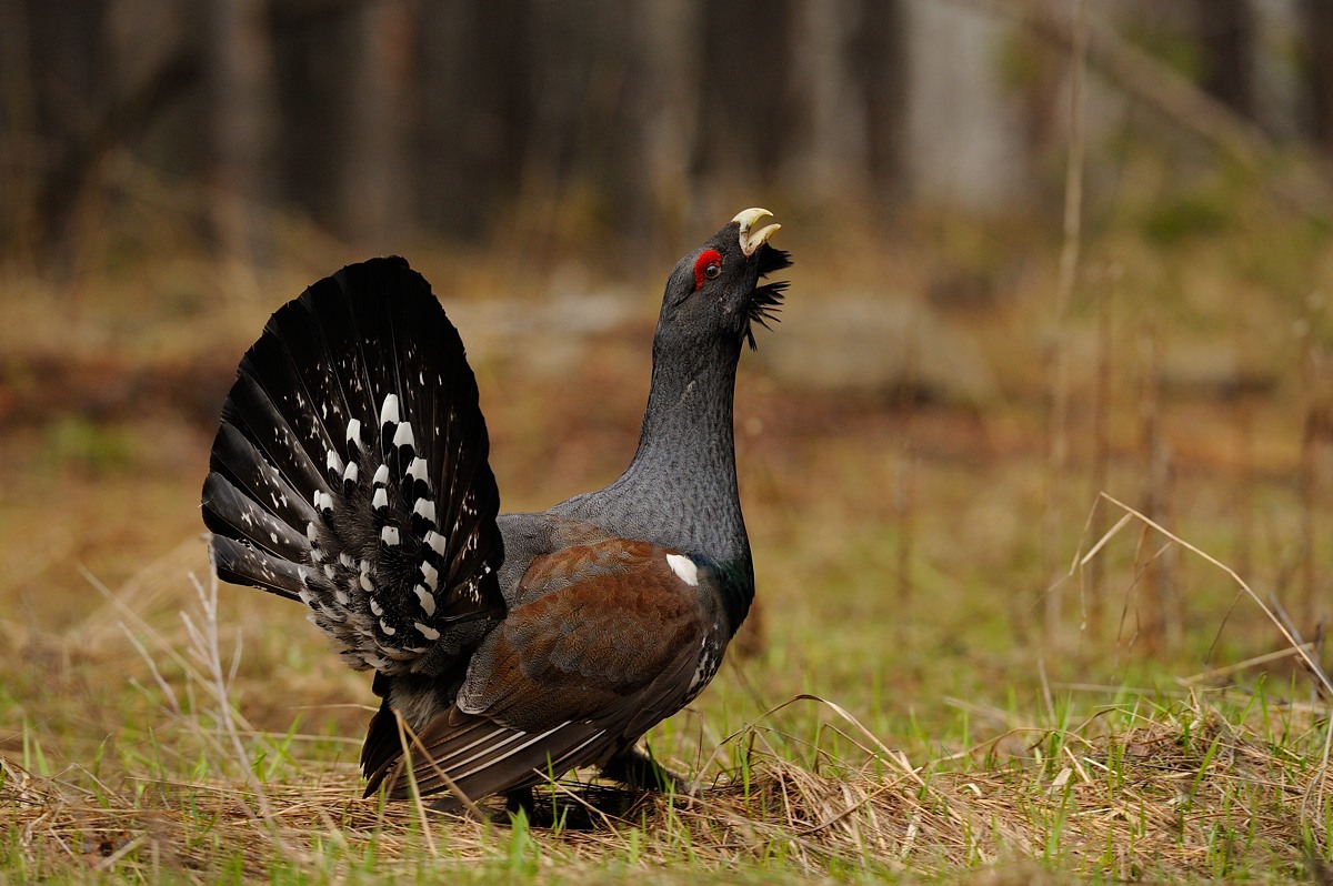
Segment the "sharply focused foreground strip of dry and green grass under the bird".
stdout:
<path fill-rule="evenodd" d="M 969 705 L 1010 725 L 984 741 L 956 734 L 957 753 L 916 761 L 838 705 L 802 695 L 724 737 L 697 797 L 636 797 L 611 818 L 583 805 L 613 807 L 607 795 L 563 786 L 552 802 L 575 815 L 547 827 L 360 801 L 352 766 L 313 750 L 327 739 L 256 734 L 223 691 L 215 594 L 200 594 L 189 649 L 168 656 L 185 691 L 164 678 L 165 703 L 136 750 L 121 751 L 119 779 L 103 771 L 105 755 L 56 771 L 36 738 L 3 759 L 7 875 L 1268 879 L 1329 862 L 1324 709 L 1262 681 L 1249 691 L 1109 687 L 1093 703 L 1068 691 L 1033 722 Z"/>

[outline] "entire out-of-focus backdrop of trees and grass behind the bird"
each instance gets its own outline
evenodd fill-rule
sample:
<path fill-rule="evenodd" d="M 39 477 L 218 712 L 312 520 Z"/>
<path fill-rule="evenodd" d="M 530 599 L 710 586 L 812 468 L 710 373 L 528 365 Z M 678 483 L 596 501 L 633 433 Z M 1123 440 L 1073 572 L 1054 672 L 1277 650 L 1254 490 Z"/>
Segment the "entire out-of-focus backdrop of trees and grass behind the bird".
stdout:
<path fill-rule="evenodd" d="M 1278 642 L 1160 537 L 1065 577 L 1101 492 L 1322 636 L 1333 3 L 0 0 L 0 638 L 56 650 L 0 714 L 176 624 L 219 404 L 311 281 L 408 256 L 547 508 L 625 464 L 666 272 L 750 205 L 796 258 L 737 394 L 774 697 L 942 717 L 1036 640 L 1070 679 Z M 225 600 L 288 697 L 368 695 Z"/>

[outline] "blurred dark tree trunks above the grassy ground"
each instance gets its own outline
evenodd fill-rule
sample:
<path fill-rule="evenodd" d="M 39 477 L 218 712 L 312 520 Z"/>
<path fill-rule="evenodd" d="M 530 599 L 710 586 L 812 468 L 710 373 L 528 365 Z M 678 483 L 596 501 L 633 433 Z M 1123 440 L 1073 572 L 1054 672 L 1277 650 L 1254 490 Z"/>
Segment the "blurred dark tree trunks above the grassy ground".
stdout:
<path fill-rule="evenodd" d="M 1089 163 L 1096 195 L 1144 143 L 1328 163 L 1328 3 L 1086 5 L 1088 147 L 1120 160 Z M 1074 8 L 4 0 L 0 236 L 59 268 L 136 203 L 253 262 L 280 260 L 275 213 L 395 246 L 516 220 L 643 244 L 741 193 L 844 217 L 1040 212 L 1064 187 Z"/>

